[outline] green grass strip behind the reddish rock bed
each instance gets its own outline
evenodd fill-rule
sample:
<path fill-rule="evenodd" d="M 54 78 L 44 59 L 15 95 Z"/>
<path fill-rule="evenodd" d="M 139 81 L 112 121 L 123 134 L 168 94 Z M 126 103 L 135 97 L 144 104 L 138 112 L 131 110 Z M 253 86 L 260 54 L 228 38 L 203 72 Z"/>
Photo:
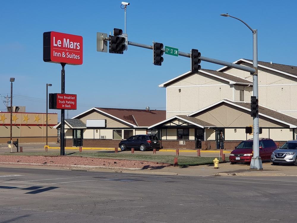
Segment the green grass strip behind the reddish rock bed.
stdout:
<path fill-rule="evenodd" d="M 18 156 L 59 156 L 60 153 L 4 153 L 1 155 L 18 155 Z M 173 164 L 173 159 L 178 157 L 179 166 L 196 166 L 213 164 L 214 157 L 198 157 L 198 156 L 174 156 L 174 155 L 150 155 L 150 154 L 127 154 L 127 153 L 105 153 L 105 152 L 94 152 L 84 153 L 75 152 L 67 153 L 67 156 L 81 156 L 81 157 L 92 157 L 92 158 L 111 158 L 111 159 L 126 159 L 126 160 L 141 160 L 141 161 L 153 161 L 153 162 L 164 162 Z M 222 159 L 220 159 L 222 161 Z M 226 161 L 229 161 L 229 157 L 226 157 Z"/>

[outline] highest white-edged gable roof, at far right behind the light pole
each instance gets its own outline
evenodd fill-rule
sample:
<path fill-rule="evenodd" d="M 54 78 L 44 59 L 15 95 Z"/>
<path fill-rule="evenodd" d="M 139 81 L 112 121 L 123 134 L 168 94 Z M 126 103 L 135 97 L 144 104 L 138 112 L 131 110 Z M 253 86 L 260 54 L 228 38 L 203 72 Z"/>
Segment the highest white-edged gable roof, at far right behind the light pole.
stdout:
<path fill-rule="evenodd" d="M 250 59 L 239 59 L 239 60 L 234 61 L 233 64 L 241 64 L 243 62 L 253 64 L 253 61 Z M 266 68 L 268 70 L 276 71 L 276 72 L 297 78 L 297 67 L 296 66 L 275 64 L 275 63 L 271 64 L 269 62 L 258 61 L 258 67 Z M 221 68 L 217 69 L 217 71 L 224 72 L 229 69 L 231 69 L 231 67 L 225 66 L 225 67 L 221 67 Z"/>

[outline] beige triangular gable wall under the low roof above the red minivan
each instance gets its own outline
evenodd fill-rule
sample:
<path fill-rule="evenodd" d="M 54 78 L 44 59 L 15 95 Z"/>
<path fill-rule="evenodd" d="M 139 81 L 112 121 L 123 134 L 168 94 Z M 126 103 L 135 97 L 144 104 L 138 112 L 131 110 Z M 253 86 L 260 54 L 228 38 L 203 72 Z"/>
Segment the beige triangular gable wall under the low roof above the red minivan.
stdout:
<path fill-rule="evenodd" d="M 232 106 L 223 104 L 203 114 L 194 116 L 198 119 L 212 123 L 218 127 L 246 127 L 253 125 L 253 118 L 247 111 L 240 111 Z M 287 127 L 285 124 L 276 124 L 265 117 L 259 117 L 260 127 Z"/>

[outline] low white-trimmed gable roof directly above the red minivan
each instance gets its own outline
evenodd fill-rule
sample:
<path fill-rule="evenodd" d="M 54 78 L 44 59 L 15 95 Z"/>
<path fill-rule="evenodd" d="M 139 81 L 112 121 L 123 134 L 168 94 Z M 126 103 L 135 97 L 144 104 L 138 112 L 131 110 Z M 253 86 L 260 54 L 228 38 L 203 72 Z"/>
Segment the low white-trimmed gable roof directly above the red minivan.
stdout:
<path fill-rule="evenodd" d="M 231 101 L 228 99 L 223 99 L 223 100 L 220 100 L 210 106 L 207 106 L 207 107 L 200 109 L 196 112 L 193 112 L 191 114 L 188 114 L 188 116 L 193 116 L 193 115 L 203 112 L 205 110 L 211 109 L 215 106 L 218 106 L 219 104 L 222 104 L 222 103 L 227 103 L 227 104 L 236 106 L 238 108 L 244 109 L 249 112 L 251 111 L 251 103 L 234 102 L 234 101 Z M 290 128 L 297 128 L 297 118 L 290 116 L 288 114 L 282 113 L 282 112 L 278 112 L 274 109 L 267 108 L 265 106 L 259 105 L 259 116 L 267 117 L 271 120 L 283 123 L 285 125 L 289 125 Z"/>

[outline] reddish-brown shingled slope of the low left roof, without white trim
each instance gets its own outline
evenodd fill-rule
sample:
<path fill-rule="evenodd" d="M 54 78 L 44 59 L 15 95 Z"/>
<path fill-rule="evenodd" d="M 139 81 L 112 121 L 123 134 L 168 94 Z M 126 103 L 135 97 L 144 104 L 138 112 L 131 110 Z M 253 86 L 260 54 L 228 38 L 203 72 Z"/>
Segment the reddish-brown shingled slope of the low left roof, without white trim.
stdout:
<path fill-rule="evenodd" d="M 137 126 L 150 126 L 166 119 L 165 110 L 151 110 L 147 112 L 146 110 L 140 109 L 97 109 Z"/>

